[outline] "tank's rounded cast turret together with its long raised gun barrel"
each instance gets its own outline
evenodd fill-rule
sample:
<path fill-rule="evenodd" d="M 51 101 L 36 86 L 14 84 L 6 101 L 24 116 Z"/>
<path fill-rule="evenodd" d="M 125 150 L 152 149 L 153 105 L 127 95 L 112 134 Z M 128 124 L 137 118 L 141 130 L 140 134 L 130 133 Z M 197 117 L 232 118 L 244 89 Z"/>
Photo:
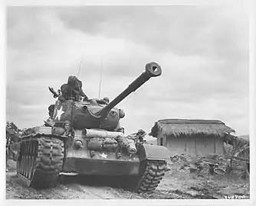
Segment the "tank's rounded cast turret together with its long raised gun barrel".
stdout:
<path fill-rule="evenodd" d="M 157 63 L 147 63 L 145 72 L 138 76 L 123 92 L 114 98 L 110 103 L 104 103 L 98 99 L 85 101 L 74 101 L 73 99 L 63 102 L 57 101 L 55 104 L 55 114 L 57 110 L 63 111 L 58 121 L 70 121 L 74 129 L 83 130 L 98 128 L 109 131 L 120 129 L 120 118 L 124 117 L 124 112 L 115 106 L 126 98 L 130 93 L 136 91 L 141 85 L 151 77 L 160 76 L 161 67 Z"/>

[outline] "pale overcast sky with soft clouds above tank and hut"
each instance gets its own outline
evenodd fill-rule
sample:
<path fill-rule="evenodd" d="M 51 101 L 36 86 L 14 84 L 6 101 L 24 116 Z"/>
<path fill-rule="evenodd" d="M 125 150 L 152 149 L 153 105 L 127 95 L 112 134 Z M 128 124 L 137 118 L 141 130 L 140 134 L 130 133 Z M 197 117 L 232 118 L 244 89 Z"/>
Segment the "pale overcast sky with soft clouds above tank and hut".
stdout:
<path fill-rule="evenodd" d="M 77 75 L 89 98 L 115 98 L 156 62 L 119 105 L 126 134 L 165 118 L 218 119 L 249 134 L 249 18 L 241 5 L 9 7 L 8 121 L 43 124 L 59 89 Z"/>

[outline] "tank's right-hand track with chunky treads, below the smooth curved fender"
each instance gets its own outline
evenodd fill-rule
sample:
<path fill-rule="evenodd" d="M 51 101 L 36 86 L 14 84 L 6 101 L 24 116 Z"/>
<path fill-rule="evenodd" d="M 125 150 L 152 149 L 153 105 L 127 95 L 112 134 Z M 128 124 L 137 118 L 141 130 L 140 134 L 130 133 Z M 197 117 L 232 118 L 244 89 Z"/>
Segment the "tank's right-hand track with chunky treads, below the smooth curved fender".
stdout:
<path fill-rule="evenodd" d="M 159 182 L 166 172 L 166 161 L 163 160 L 146 160 L 144 163 L 143 174 L 135 188 L 138 193 L 152 193 L 156 190 Z"/>

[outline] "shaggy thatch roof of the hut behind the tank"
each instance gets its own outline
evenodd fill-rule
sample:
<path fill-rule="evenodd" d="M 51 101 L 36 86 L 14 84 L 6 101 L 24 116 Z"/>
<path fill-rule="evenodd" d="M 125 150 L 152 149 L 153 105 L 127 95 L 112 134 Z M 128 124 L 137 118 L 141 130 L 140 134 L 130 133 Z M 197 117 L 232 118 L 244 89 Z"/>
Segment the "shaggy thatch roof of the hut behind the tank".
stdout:
<path fill-rule="evenodd" d="M 166 119 L 159 120 L 152 127 L 149 135 L 157 137 L 162 133 L 166 136 L 179 137 L 202 134 L 204 136 L 225 137 L 235 130 L 217 120 Z"/>

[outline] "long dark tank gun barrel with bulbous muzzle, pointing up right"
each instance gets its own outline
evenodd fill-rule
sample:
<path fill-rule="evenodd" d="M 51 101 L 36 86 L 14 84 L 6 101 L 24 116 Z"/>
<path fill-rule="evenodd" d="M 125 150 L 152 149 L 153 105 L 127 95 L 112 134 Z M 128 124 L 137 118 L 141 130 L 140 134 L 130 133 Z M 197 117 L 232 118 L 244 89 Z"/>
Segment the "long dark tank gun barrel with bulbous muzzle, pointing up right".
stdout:
<path fill-rule="evenodd" d="M 120 101 L 122 101 L 130 93 L 135 92 L 141 85 L 148 81 L 151 77 L 160 76 L 162 74 L 162 69 L 157 63 L 147 63 L 145 72 L 137 77 L 120 95 L 110 101 L 110 103 L 100 111 L 100 116 L 102 118 L 107 117 L 108 112 L 115 107 Z"/>

